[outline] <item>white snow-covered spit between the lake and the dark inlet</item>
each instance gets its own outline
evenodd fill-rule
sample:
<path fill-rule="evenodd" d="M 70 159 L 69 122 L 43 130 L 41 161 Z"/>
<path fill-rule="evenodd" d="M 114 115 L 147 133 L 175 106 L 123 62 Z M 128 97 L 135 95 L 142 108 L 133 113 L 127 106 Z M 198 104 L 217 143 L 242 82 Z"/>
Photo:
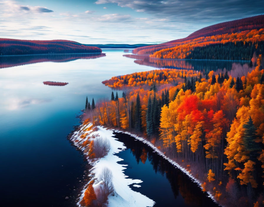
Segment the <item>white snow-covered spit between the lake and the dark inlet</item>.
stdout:
<path fill-rule="evenodd" d="M 150 198 L 142 195 L 141 193 L 133 191 L 129 185 L 134 184 L 134 186 L 140 187 L 139 185 L 136 185 L 138 183 L 141 183 L 141 180 L 138 179 L 131 179 L 127 178 L 127 176 L 124 174 L 124 169 L 126 169 L 127 165 L 118 164 L 118 161 L 122 161 L 123 159 L 119 158 L 115 155 L 115 153 L 118 153 L 126 147 L 123 145 L 122 142 L 117 141 L 115 136 L 113 134 L 113 130 L 106 129 L 104 127 L 98 126 L 97 131 L 94 131 L 92 128 L 92 124 L 83 124 L 80 126 L 80 128 L 75 131 L 72 136 L 70 137 L 70 140 L 74 143 L 75 146 L 80 148 L 85 156 L 87 156 L 87 159 L 89 163 L 93 166 L 93 168 L 90 170 L 91 176 L 95 179 L 95 183 L 93 186 L 95 187 L 100 182 L 99 177 L 103 170 L 103 168 L 107 167 L 109 168 L 113 173 L 113 186 L 114 186 L 114 196 L 109 195 L 108 196 L 108 206 L 110 207 L 145 207 L 145 206 L 153 206 L 154 201 Z M 106 156 L 103 158 L 97 159 L 96 161 L 92 161 L 88 158 L 88 152 L 85 152 L 85 146 L 84 143 L 88 139 L 92 139 L 91 137 L 102 137 L 107 138 L 110 141 L 110 150 Z M 96 181 L 97 180 L 97 181 Z M 85 189 L 82 191 L 82 196 L 80 197 L 80 200 L 82 200 L 84 196 Z M 80 206 L 80 203 L 78 203 Z"/>

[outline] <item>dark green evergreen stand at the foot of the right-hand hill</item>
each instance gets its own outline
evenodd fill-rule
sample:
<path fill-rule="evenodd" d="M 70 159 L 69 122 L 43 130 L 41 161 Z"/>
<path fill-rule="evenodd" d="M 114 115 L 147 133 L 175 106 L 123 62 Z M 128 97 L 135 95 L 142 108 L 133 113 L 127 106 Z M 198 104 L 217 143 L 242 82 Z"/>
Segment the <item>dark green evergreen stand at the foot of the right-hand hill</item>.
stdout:
<path fill-rule="evenodd" d="M 194 47 L 186 59 L 250 60 L 254 52 L 257 55 L 264 54 L 263 41 L 257 44 L 239 41 Z"/>

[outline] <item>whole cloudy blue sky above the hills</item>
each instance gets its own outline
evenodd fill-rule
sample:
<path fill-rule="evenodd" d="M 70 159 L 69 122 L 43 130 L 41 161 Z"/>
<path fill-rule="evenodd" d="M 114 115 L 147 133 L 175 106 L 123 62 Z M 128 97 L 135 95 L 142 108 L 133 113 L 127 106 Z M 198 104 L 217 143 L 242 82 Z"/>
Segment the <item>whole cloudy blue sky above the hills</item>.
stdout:
<path fill-rule="evenodd" d="M 264 14 L 264 0 L 0 0 L 0 38 L 157 44 Z"/>

